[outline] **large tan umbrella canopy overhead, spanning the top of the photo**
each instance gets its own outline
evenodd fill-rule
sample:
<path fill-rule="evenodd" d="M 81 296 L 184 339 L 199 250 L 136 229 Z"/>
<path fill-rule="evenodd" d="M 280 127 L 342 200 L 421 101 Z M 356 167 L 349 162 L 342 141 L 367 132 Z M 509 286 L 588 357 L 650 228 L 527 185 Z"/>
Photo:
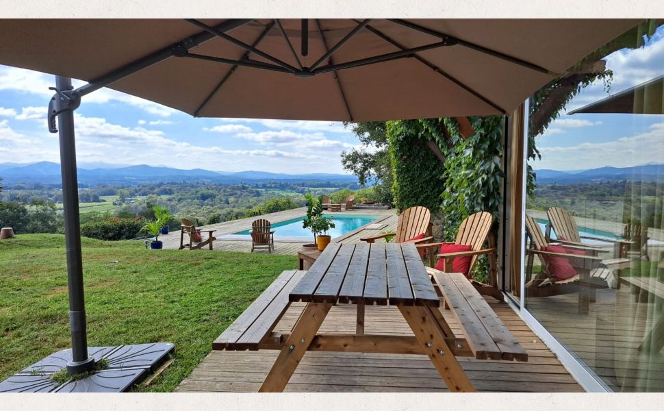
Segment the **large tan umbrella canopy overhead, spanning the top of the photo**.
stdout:
<path fill-rule="evenodd" d="M 0 64 L 201 117 L 504 114 L 639 23 L 582 19 L 2 20 Z M 81 93 L 85 94 L 85 93 Z"/>

